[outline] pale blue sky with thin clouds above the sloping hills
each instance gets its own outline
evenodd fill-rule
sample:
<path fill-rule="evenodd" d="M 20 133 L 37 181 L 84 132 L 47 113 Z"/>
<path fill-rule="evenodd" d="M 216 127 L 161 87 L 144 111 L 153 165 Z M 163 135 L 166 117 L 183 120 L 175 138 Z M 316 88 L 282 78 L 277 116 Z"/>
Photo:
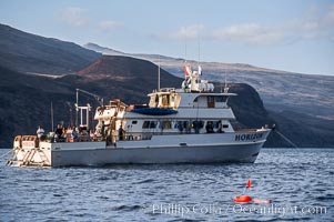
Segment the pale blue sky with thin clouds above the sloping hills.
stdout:
<path fill-rule="evenodd" d="M 128 53 L 334 75 L 334 0 L 0 0 L 0 23 Z"/>

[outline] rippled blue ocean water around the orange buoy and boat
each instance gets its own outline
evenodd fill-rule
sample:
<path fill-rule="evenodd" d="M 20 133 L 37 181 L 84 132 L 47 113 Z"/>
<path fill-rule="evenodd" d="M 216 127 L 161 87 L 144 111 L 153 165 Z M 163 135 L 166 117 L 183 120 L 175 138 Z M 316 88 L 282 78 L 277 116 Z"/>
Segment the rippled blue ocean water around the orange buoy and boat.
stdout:
<path fill-rule="evenodd" d="M 0 221 L 334 221 L 331 149 L 263 149 L 254 164 L 59 169 L 6 167 L 8 151 Z M 234 203 L 244 190 L 272 203 Z"/>

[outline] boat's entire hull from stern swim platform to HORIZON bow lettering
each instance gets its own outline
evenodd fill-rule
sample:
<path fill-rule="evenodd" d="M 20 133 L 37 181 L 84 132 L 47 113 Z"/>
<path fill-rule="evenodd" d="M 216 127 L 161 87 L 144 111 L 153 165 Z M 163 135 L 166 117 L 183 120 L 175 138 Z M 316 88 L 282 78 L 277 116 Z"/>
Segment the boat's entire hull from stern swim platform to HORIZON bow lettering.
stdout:
<path fill-rule="evenodd" d="M 164 163 L 253 163 L 271 130 L 154 135 L 150 140 L 40 142 L 14 150 L 18 165 L 70 167 Z"/>

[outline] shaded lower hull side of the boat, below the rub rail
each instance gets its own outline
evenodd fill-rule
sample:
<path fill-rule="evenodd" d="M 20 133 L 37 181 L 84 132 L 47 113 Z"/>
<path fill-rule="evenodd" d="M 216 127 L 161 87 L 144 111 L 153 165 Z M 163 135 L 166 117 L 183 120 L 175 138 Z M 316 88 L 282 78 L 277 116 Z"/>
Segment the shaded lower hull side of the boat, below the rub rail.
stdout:
<path fill-rule="evenodd" d="M 52 167 L 165 163 L 253 163 L 263 142 L 240 145 L 52 151 Z"/>

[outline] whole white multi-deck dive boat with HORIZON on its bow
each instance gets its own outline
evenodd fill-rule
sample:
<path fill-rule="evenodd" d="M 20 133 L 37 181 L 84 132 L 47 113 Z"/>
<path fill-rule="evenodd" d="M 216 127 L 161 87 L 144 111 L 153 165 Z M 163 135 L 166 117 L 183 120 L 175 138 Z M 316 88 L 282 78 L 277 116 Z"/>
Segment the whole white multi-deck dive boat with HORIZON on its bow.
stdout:
<path fill-rule="evenodd" d="M 227 100 L 236 94 L 213 92 L 189 65 L 185 74 L 182 89 L 153 91 L 149 104 L 112 100 L 97 108 L 93 137 L 16 137 L 8 164 L 253 163 L 271 129 L 234 130 Z"/>

